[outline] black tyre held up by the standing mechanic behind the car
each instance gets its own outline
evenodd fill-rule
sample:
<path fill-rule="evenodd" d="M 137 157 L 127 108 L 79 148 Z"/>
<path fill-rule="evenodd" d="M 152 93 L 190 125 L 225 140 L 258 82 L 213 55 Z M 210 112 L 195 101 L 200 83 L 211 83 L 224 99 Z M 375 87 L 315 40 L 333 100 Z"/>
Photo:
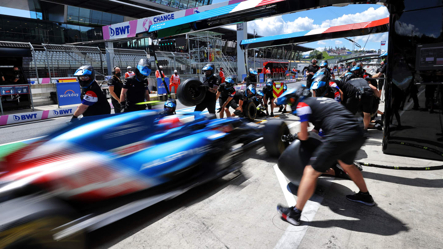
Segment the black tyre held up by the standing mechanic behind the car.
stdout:
<path fill-rule="evenodd" d="M 200 104 L 206 96 L 206 88 L 202 82 L 196 78 L 187 79 L 179 85 L 177 89 L 177 98 L 180 103 L 186 106 L 194 106 Z"/>

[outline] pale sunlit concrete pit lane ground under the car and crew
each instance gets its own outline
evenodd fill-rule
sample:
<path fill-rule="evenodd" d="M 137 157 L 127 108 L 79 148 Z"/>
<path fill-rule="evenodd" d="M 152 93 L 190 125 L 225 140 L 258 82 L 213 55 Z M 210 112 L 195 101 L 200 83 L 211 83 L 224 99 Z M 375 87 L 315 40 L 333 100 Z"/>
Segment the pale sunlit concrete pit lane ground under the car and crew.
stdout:
<path fill-rule="evenodd" d="M 276 115 L 291 132 L 298 131 L 297 117 Z M 14 131 L 17 135 L 11 140 L 27 139 L 27 132 L 46 129 L 47 124 L 53 129 L 66 119 L 4 127 L 0 135 Z M 358 161 L 410 167 L 442 164 L 385 155 L 382 132 L 369 133 Z M 346 200 L 358 191 L 352 181 L 321 177 L 303 210 L 302 224 L 292 226 L 280 219 L 276 205 L 293 205 L 297 187 L 288 183 L 276 161 L 264 147 L 253 149 L 244 155 L 239 170 L 90 233 L 90 248 L 443 248 L 443 170 L 364 166 L 362 174 L 376 206 Z"/>

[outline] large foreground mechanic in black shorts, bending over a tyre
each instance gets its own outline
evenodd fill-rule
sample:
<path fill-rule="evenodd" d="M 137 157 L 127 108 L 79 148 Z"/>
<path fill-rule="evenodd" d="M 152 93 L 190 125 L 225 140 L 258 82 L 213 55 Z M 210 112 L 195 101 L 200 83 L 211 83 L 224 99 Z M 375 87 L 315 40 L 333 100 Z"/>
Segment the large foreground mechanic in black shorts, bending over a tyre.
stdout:
<path fill-rule="evenodd" d="M 355 156 L 365 142 L 364 132 L 357 118 L 343 105 L 330 98 L 306 97 L 302 91 L 297 91 L 289 98 L 288 103 L 293 103 L 291 108 L 295 109 L 295 114 L 300 117 L 298 139 L 303 141 L 309 138 L 307 128 L 311 122 L 322 127 L 325 140 L 315 149 L 310 162 L 304 168 L 297 192 L 297 203 L 292 207 L 278 205 L 278 212 L 289 223 L 298 226 L 303 207 L 314 194 L 318 177 L 337 161 L 360 189 L 357 194 L 346 195 L 346 198 L 373 206 L 375 203 L 369 195 L 365 180 L 354 165 Z"/>

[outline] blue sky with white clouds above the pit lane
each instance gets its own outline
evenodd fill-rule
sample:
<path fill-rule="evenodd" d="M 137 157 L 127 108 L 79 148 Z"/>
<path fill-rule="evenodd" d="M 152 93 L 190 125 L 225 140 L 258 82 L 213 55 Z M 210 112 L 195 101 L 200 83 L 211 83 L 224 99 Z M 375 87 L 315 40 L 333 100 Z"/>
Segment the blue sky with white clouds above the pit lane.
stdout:
<path fill-rule="evenodd" d="M 225 0 L 213 0 L 213 4 L 224 2 Z M 265 19 L 257 19 L 248 22 L 248 33 L 253 33 L 254 29 L 258 35 L 280 35 L 297 31 L 305 31 L 322 27 L 332 27 L 351 23 L 362 23 L 389 16 L 388 9 L 378 4 L 349 4 L 345 7 L 325 7 L 303 12 L 297 12 L 282 16 L 274 16 Z M 234 28 L 233 26 L 226 26 Z M 353 39 L 352 37 L 348 37 Z M 386 41 L 386 45 L 381 46 L 381 41 Z M 388 50 L 388 33 L 364 35 L 355 37 L 355 42 L 365 50 L 378 49 Z M 366 44 L 366 45 L 365 45 Z M 321 40 L 313 43 L 304 43 L 304 47 L 323 49 L 326 47 L 345 46 L 352 49 L 352 43 L 346 39 Z M 355 47 L 358 49 L 358 47 Z M 309 54 L 306 52 L 304 54 Z"/>

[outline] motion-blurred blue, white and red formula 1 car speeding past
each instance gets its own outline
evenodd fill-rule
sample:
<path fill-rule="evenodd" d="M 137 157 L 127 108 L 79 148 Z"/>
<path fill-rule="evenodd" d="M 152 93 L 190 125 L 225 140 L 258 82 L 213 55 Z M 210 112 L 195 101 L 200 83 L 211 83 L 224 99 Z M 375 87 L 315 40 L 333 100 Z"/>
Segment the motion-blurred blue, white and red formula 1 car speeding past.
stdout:
<path fill-rule="evenodd" d="M 86 232 L 241 167 L 261 136 L 197 113 L 83 118 L 0 162 L 0 248 L 83 248 Z"/>

